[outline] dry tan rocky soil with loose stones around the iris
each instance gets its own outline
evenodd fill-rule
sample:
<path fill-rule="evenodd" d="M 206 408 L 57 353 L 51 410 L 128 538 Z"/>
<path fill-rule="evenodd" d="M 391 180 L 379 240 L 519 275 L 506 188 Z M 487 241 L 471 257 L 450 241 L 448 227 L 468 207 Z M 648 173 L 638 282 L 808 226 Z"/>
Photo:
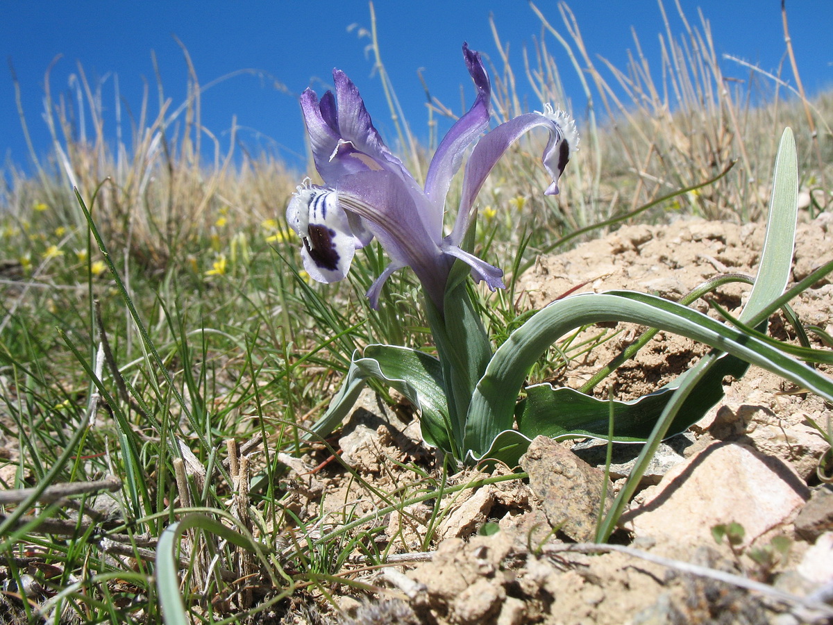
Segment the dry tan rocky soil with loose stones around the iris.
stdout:
<path fill-rule="evenodd" d="M 754 275 L 763 236 L 760 225 L 702 221 L 621 228 L 541 258 L 522 287 L 536 308 L 582 282 L 585 291 L 632 288 L 678 299 L 718 273 Z M 802 224 L 793 278 L 831 258 L 833 222 Z M 737 311 L 748 290 L 729 286 L 715 297 Z M 833 333 L 831 298 L 833 284 L 826 282 L 793 304 L 804 323 Z M 616 338 L 556 383 L 577 388 L 640 331 L 617 329 Z M 780 318 L 771 332 L 791 336 Z M 660 333 L 606 384 L 617 398 L 638 397 L 701 353 L 686 339 Z M 725 389 L 724 400 L 701 423 L 661 448 L 610 547 L 589 544 L 601 501 L 603 448 L 539 438 L 521 461 L 528 482 L 447 496 L 438 517 L 431 502 L 389 515 L 377 541 L 405 554 L 402 562 L 357 577 L 378 592 L 344 592 L 336 597 L 341 613 L 327 613 L 326 602 L 319 602 L 324 612 L 317 617 L 307 611 L 285 622 L 833 622 L 833 489 L 820 469 L 829 446 L 813 426 L 831 428 L 833 410 L 757 368 L 726 380 Z M 606 396 L 606 386 L 597 392 Z M 370 513 L 380 506 L 374 488 L 392 493 L 417 478 L 408 463 L 436 472 L 416 423 L 370 394 L 339 444 L 356 475 L 333 464 L 296 476 L 301 517 L 314 514 L 322 495 L 334 517 L 348 508 Z M 621 488 L 637 453 L 634 446 L 616 446 L 609 493 Z M 461 473 L 448 485 L 477 477 Z M 713 528 L 721 525 L 728 535 L 717 542 Z M 483 535 L 489 533 L 484 527 L 497 531 Z"/>

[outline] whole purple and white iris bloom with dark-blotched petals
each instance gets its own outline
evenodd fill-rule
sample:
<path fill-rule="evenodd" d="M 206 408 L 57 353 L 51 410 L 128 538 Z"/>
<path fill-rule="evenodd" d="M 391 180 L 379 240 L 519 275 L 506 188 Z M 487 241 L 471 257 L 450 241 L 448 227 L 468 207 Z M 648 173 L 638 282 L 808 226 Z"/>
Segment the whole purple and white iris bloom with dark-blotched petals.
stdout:
<path fill-rule="evenodd" d="M 375 237 L 391 263 L 367 291 L 373 308 L 387 278 L 403 267 L 413 269 L 439 310 L 455 259 L 471 266 L 477 282 L 485 281 L 492 291 L 503 288 L 499 268 L 460 247 L 476 213 L 476 195 L 511 143 L 537 127 L 550 133 L 542 161 L 552 183 L 545 193 L 558 193 L 558 178 L 578 136 L 566 112 L 549 104 L 544 112 L 519 115 L 486 132 L 491 117 L 489 76 L 480 53 L 466 43 L 463 57 L 477 96 L 436 148 L 424 185 L 382 142 L 356 85 L 344 72 L 333 71 L 335 95 L 327 91 L 319 100 L 311 89 L 303 92 L 304 122 L 324 186 L 299 186 L 287 208 L 287 221 L 302 239 L 304 268 L 312 278 L 322 283 L 341 280 L 356 250 Z M 456 223 L 445 235 L 446 194 L 472 144 Z"/>

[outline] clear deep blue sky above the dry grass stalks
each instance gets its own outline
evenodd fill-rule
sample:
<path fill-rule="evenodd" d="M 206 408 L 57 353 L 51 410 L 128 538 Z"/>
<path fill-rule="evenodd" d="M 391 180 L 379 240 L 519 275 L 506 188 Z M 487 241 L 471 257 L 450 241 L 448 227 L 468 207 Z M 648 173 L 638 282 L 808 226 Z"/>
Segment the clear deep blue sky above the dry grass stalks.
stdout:
<path fill-rule="evenodd" d="M 539 0 L 538 7 L 561 32 L 556 2 Z M 682 0 L 686 16 L 699 23 L 701 7 L 711 22 L 718 52 L 730 53 L 777 72 L 784 58 L 780 0 Z M 683 32 L 672 0 L 666 0 L 672 32 Z M 377 0 L 377 28 L 383 60 L 392 77 L 406 116 L 417 134 L 425 134 L 425 94 L 417 70 L 422 70 L 432 95 L 459 112 L 460 86 L 471 102 L 471 82 L 461 61 L 467 40 L 499 65 L 489 15 L 493 13 L 501 40 L 523 83 L 523 47 L 541 36 L 541 23 L 523 0 Z M 658 33 L 663 32 L 656 0 L 576 0 L 571 2 L 586 47 L 617 67 L 625 67 L 626 52 L 634 49 L 631 27 L 646 55 L 658 61 Z M 833 0 L 787 0 L 793 45 L 802 80 L 810 92 L 833 85 Z M 150 92 L 155 115 L 157 83 L 152 64 L 155 53 L 165 95 L 179 105 L 186 92 L 187 64 L 174 36 L 187 48 L 204 85 L 237 70 L 252 69 L 207 90 L 202 97 L 202 123 L 228 145 L 232 117 L 240 128 L 238 141 L 250 151 L 266 148 L 290 163 L 302 163 L 303 126 L 297 94 L 312 85 L 322 92 L 340 67 L 362 91 L 382 133 L 392 138 L 382 87 L 372 77 L 366 55 L 367 38 L 351 24 L 369 27 L 367 2 L 362 0 L 2 0 L 0 49 L 14 67 L 21 87 L 22 107 L 38 156 L 49 148 L 42 120 L 44 72 L 53 58 L 52 94 L 69 93 L 80 63 L 87 79 L 102 82 L 107 112 L 105 133 L 115 135 L 114 75 L 122 97 L 122 114 L 137 115 L 142 92 Z M 579 87 L 561 48 L 546 35 L 556 55 L 566 87 Z M 792 81 L 788 65 L 785 77 Z M 726 62 L 729 76 L 746 78 L 748 71 Z M 522 87 L 526 90 L 525 87 Z M 526 90 L 528 91 L 528 90 Z M 72 96 L 74 97 L 74 96 Z M 534 97 L 531 95 L 530 97 Z M 534 99 L 531 107 L 539 107 Z M 581 112 L 578 112 L 581 116 Z M 129 132 L 129 123 L 125 130 Z M 27 168 L 26 144 L 17 116 L 11 72 L 0 71 L 0 163 Z"/>

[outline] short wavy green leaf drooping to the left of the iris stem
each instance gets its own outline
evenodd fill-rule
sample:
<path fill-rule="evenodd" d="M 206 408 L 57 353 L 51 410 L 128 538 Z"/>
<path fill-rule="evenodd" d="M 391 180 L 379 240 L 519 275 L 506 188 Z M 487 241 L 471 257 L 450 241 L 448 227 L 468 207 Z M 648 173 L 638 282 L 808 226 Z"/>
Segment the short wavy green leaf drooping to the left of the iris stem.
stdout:
<path fill-rule="evenodd" d="M 305 438 L 325 437 L 332 433 L 352 410 L 368 378 L 376 378 L 408 398 L 420 413 L 422 438 L 430 445 L 451 452 L 448 404 L 440 362 L 416 349 L 395 345 L 368 345 L 363 355 L 358 350 L 353 353 L 342 388 Z"/>

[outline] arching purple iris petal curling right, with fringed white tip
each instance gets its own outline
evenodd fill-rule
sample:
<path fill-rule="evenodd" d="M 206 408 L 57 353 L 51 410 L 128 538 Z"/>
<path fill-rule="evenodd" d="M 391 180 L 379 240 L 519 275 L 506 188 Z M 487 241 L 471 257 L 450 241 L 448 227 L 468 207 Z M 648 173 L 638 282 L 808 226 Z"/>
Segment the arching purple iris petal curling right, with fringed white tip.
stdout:
<path fill-rule="evenodd" d="M 468 163 L 466 163 L 460 210 L 457 213 L 454 229 L 448 237 L 451 244 L 459 245 L 465 236 L 471 221 L 475 198 L 491 169 L 495 167 L 506 149 L 517 138 L 528 133 L 532 128 L 538 127 L 546 128 L 550 132 L 550 138 L 546 142 L 541 160 L 547 173 L 550 174 L 552 183 L 544 194 L 555 195 L 558 193 L 558 178 L 564 171 L 572 154 L 576 152 L 579 139 L 576 132 L 576 123 L 573 122 L 571 117 L 566 112 L 553 110 L 550 104 L 546 104 L 544 112 L 529 112 L 513 117 L 508 122 L 503 122 L 491 132 L 486 133 L 477 142 Z"/>

